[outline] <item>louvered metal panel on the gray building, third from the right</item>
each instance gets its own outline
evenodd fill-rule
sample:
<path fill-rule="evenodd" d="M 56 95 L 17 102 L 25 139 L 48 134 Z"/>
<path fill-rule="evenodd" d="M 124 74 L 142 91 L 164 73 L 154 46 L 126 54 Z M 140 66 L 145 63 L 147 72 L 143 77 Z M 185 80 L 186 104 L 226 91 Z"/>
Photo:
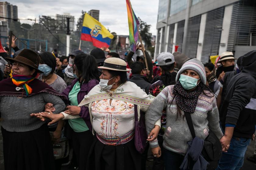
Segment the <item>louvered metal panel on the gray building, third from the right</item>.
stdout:
<path fill-rule="evenodd" d="M 201 15 L 194 16 L 188 21 L 187 45 L 185 54 L 189 58 L 196 58 L 197 44 L 200 31 Z"/>

